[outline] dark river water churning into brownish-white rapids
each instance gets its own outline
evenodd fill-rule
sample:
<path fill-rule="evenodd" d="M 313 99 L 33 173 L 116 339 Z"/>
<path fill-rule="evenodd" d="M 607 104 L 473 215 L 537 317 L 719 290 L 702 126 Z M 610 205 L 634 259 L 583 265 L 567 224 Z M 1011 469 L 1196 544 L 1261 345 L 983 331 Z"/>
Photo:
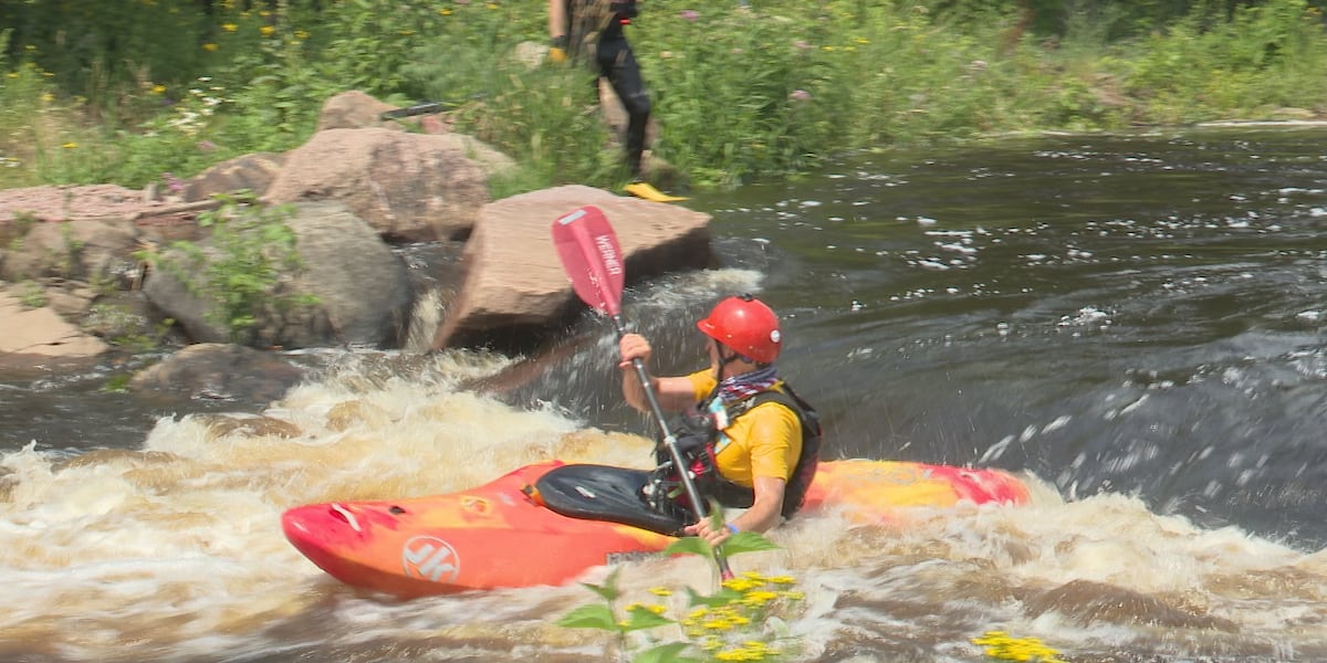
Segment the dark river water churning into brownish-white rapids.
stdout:
<path fill-rule="evenodd" d="M 691 321 L 755 292 L 828 456 L 1034 487 L 1027 507 L 774 532 L 782 550 L 735 564 L 798 579 L 788 659 L 985 660 L 973 638 L 1007 631 L 1074 662 L 1327 660 L 1327 127 L 859 155 L 682 204 L 714 215 L 718 267 L 624 300 L 658 373 L 699 367 Z M 476 351 L 292 357 L 325 370 L 273 403 L 98 392 L 113 367 L 5 379 L 0 660 L 612 660 L 553 623 L 584 587 L 384 601 L 277 522 L 549 456 L 644 463 L 613 330 L 579 332 L 503 392 L 471 385 L 520 366 Z M 215 426 L 260 416 L 303 435 Z M 621 583 L 709 573 L 664 560 Z"/>

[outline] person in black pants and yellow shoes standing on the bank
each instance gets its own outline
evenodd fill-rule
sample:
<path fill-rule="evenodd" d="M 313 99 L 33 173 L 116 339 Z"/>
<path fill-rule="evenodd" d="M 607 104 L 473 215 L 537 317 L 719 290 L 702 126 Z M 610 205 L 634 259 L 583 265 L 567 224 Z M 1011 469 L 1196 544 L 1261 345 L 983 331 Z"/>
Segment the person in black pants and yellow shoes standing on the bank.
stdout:
<path fill-rule="evenodd" d="M 650 95 L 640 64 L 626 41 L 624 27 L 636 17 L 636 0 L 548 0 L 548 58 L 568 58 L 589 65 L 608 78 L 626 110 L 626 167 L 632 182 L 626 192 L 649 200 L 675 200 L 642 178 L 645 127 L 650 119 Z M 597 85 L 596 80 L 596 85 Z"/>

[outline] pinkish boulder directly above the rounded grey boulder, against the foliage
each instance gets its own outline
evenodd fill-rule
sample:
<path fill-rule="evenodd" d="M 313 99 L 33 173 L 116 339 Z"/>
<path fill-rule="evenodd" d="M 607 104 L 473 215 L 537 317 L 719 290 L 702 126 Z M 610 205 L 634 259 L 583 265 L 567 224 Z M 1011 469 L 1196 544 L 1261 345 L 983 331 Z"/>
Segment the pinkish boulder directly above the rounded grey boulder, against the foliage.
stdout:
<path fill-rule="evenodd" d="M 460 134 L 332 129 L 287 154 L 271 203 L 340 200 L 389 240 L 463 239 L 511 159 Z"/>

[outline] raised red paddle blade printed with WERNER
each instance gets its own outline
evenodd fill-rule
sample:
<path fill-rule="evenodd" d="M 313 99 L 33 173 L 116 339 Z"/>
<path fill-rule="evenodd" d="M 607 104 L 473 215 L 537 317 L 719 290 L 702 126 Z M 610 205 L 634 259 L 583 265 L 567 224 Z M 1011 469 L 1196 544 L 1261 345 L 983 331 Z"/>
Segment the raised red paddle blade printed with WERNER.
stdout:
<path fill-rule="evenodd" d="M 553 221 L 553 244 L 581 301 L 617 316 L 626 271 L 617 235 L 604 212 L 585 206 L 563 215 Z"/>

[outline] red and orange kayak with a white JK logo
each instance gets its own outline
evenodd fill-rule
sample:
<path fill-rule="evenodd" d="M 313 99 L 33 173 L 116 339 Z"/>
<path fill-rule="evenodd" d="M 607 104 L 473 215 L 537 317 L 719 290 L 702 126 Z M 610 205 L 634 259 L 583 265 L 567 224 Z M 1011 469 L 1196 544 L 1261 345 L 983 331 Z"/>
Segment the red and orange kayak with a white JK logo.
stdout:
<path fill-rule="evenodd" d="M 648 477 L 548 460 L 456 493 L 296 507 L 281 528 L 333 578 L 401 598 L 563 585 L 674 541 L 660 532 L 675 532 L 675 522 L 638 497 Z M 889 524 L 913 508 L 1027 501 L 1027 485 L 999 469 L 829 460 L 796 517 L 843 509 L 857 522 Z"/>

